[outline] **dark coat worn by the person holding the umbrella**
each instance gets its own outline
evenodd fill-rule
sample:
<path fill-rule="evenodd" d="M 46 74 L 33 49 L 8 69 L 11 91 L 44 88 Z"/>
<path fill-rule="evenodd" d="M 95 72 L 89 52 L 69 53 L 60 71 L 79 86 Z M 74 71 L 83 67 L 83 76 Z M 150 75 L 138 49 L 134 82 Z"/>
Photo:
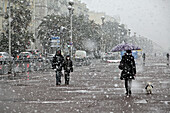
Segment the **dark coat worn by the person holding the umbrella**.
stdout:
<path fill-rule="evenodd" d="M 120 79 L 134 79 L 136 74 L 136 65 L 134 57 L 129 54 L 125 54 L 122 56 L 122 60 L 119 65 L 119 69 L 122 70 Z"/>

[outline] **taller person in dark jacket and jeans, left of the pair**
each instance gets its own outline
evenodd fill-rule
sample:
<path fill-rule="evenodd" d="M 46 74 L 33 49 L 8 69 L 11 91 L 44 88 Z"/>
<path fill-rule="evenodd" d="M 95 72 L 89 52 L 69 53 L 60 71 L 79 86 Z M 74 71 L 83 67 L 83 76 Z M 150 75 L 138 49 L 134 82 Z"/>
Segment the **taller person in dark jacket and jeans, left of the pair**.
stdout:
<path fill-rule="evenodd" d="M 61 55 L 61 49 L 58 48 L 52 60 L 52 68 L 56 71 L 56 86 L 61 84 L 62 67 L 64 64 L 64 57 Z"/>

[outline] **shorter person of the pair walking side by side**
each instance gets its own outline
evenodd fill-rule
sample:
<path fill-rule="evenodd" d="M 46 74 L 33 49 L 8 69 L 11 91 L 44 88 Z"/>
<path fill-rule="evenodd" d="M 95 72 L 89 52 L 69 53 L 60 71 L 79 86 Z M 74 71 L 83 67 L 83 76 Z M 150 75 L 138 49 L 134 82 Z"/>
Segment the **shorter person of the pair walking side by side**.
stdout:
<path fill-rule="evenodd" d="M 70 56 L 67 55 L 64 61 L 65 85 L 69 85 L 70 72 L 73 72 L 73 63 Z"/>

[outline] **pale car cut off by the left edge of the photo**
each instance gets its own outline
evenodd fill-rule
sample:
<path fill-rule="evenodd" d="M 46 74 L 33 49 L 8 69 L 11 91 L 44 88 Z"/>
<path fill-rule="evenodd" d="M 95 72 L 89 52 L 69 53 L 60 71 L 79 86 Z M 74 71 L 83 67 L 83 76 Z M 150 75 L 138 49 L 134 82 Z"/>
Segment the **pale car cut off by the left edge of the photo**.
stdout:
<path fill-rule="evenodd" d="M 10 56 L 7 52 L 0 52 L 0 61 L 13 61 L 14 57 Z"/>

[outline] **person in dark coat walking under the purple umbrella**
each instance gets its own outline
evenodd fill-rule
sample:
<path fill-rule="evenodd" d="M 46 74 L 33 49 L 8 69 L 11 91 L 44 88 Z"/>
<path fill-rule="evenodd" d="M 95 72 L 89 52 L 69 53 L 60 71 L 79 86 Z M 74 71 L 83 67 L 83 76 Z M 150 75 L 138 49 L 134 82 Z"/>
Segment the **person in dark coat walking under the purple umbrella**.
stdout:
<path fill-rule="evenodd" d="M 136 76 L 136 65 L 131 50 L 127 50 L 126 54 L 122 56 L 119 69 L 122 70 L 120 79 L 125 80 L 126 95 L 131 95 L 132 80 Z"/>

